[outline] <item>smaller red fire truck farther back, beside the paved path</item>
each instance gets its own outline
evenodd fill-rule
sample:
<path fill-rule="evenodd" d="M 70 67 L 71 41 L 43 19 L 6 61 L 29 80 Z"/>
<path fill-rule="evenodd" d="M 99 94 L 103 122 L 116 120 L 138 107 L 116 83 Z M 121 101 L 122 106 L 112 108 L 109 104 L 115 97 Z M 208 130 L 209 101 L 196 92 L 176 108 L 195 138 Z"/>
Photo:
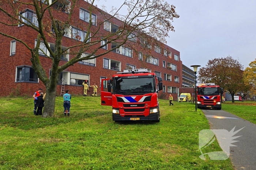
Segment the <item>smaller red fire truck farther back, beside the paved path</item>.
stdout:
<path fill-rule="evenodd" d="M 223 88 L 214 83 L 200 84 L 197 86 L 197 107 L 221 110 L 221 94 Z"/>

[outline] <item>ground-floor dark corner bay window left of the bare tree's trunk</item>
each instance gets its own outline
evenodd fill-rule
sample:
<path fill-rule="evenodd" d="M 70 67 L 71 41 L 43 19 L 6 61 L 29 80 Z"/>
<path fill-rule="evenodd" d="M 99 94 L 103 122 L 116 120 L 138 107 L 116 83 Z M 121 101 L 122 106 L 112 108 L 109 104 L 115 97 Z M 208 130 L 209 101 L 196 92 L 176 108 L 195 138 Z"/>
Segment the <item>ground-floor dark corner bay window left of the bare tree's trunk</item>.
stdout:
<path fill-rule="evenodd" d="M 35 82 L 38 83 L 38 77 L 32 67 L 17 67 L 16 82 Z"/>

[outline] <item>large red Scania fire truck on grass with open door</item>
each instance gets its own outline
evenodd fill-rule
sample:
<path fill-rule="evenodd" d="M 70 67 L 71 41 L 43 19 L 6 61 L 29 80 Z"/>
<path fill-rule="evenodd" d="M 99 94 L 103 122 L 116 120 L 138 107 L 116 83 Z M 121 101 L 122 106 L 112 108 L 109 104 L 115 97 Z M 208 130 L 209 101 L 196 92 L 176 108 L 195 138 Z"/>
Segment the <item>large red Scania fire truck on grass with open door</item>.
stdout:
<path fill-rule="evenodd" d="M 101 105 L 112 106 L 112 118 L 115 122 L 159 122 L 157 93 L 162 89 L 162 78 L 147 69 L 124 70 L 113 75 L 111 79 L 102 79 Z"/>

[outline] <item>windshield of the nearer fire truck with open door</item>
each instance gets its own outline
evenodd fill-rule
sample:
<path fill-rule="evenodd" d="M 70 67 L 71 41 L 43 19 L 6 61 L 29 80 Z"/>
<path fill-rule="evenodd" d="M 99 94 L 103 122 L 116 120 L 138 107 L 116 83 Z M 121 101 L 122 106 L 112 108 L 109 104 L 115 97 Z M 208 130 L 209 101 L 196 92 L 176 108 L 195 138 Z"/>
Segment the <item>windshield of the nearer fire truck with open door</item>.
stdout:
<path fill-rule="evenodd" d="M 115 94 L 155 92 L 154 78 L 114 79 L 113 91 Z"/>

